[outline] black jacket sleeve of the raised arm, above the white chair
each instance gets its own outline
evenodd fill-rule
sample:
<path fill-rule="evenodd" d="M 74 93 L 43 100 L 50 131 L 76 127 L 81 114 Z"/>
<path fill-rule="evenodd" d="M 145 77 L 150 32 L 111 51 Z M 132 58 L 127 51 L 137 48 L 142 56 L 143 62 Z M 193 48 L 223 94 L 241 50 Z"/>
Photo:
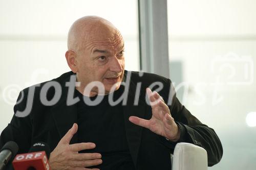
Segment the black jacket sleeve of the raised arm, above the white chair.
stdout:
<path fill-rule="evenodd" d="M 217 164 L 223 155 L 222 144 L 214 129 L 202 124 L 177 99 L 172 82 L 168 79 L 168 96 L 164 100 L 168 103 L 170 113 L 180 128 L 180 140 L 198 145 L 207 151 L 208 166 Z M 165 93 L 166 94 L 166 93 Z M 169 101 L 168 101 L 169 100 Z M 165 141 L 167 147 L 174 149 L 177 142 Z"/>

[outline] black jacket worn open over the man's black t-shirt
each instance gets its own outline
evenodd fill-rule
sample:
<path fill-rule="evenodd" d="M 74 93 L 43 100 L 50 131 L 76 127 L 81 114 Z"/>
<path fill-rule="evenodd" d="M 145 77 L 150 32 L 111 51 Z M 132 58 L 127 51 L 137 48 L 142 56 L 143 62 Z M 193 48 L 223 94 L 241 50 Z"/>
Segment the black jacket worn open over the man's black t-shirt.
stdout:
<path fill-rule="evenodd" d="M 131 81 L 127 105 L 123 106 L 123 116 L 127 142 L 137 169 L 170 169 L 170 153 L 174 151 L 176 145 L 175 142 L 170 142 L 148 129 L 132 124 L 128 119 L 131 115 L 145 119 L 152 117 L 151 106 L 145 102 L 145 89 L 154 82 L 163 84 L 162 90 L 158 93 L 166 103 L 168 103 L 168 100 L 171 101 L 171 103 L 169 101 L 168 105 L 170 112 L 181 129 L 179 142 L 189 142 L 204 148 L 207 151 L 208 166 L 220 161 L 223 150 L 217 134 L 213 129 L 202 124 L 179 102 L 169 79 L 155 74 L 143 73 L 141 75 L 139 72 L 125 71 L 124 80 L 129 74 L 131 75 Z M 28 104 L 29 89 L 34 88 L 32 110 L 26 117 L 13 116 L 11 123 L 1 134 L 1 148 L 10 140 L 18 144 L 18 153 L 28 152 L 31 145 L 38 141 L 47 142 L 51 151 L 56 147 L 59 140 L 72 127 L 73 123 L 77 123 L 76 105 L 67 106 L 66 104 L 68 95 L 66 82 L 70 81 L 71 75 L 74 75 L 73 72 L 67 72 L 56 79 L 40 83 L 32 86 L 32 88 L 26 88 L 20 92 L 18 102 L 14 106 L 14 113 L 25 110 Z M 60 100 L 56 101 L 57 103 L 53 106 L 43 105 L 39 97 L 42 87 L 49 82 L 58 82 L 62 91 Z M 134 106 L 136 87 L 139 84 L 141 84 L 141 90 L 139 100 L 137 100 L 138 105 Z M 153 87 L 153 90 L 156 88 L 158 86 Z M 53 87 L 49 88 L 46 95 L 49 101 L 53 99 L 55 91 Z M 29 102 L 32 101 L 30 100 Z M 77 143 L 77 134 L 73 136 L 71 143 Z"/>

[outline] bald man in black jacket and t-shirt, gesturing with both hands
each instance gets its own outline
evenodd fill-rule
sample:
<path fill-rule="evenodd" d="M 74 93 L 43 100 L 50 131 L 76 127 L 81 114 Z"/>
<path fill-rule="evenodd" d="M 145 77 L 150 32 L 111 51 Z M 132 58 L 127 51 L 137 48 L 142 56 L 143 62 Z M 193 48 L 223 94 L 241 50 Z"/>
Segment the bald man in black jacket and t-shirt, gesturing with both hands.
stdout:
<path fill-rule="evenodd" d="M 47 142 L 52 169 L 170 169 L 178 142 L 203 147 L 209 166 L 220 161 L 217 134 L 181 105 L 169 79 L 124 70 L 111 22 L 76 20 L 65 56 L 72 71 L 20 92 L 1 147 L 13 140 L 26 153 Z"/>

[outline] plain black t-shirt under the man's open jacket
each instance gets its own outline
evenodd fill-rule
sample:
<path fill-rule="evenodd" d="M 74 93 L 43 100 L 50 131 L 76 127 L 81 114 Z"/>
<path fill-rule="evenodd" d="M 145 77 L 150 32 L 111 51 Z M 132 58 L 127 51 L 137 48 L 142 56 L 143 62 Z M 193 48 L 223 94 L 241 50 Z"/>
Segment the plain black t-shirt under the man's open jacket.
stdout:
<path fill-rule="evenodd" d="M 114 92 L 116 101 L 122 94 L 120 87 Z M 94 101 L 95 97 L 83 96 L 76 90 L 80 102 L 77 104 L 78 142 L 93 142 L 95 149 L 84 150 L 80 153 L 100 153 L 102 164 L 92 166 L 105 169 L 133 170 L 135 169 L 128 148 L 124 128 L 124 117 L 121 103 L 111 106 L 109 95 L 104 95 L 96 106 L 87 105 L 83 98 Z"/>

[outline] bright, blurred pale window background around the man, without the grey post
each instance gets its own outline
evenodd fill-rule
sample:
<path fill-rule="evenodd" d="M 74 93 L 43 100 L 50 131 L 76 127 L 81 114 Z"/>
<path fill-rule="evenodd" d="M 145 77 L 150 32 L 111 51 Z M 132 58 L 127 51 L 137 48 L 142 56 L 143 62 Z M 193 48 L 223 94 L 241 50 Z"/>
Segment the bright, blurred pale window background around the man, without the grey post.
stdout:
<path fill-rule="evenodd" d="M 20 90 L 70 70 L 67 34 L 82 16 L 110 20 L 125 40 L 126 69 L 143 70 L 138 4 L 0 0 L 0 133 Z M 182 104 L 223 144 L 221 162 L 208 169 L 256 169 L 255 7 L 254 0 L 167 0 L 169 77 Z"/>

